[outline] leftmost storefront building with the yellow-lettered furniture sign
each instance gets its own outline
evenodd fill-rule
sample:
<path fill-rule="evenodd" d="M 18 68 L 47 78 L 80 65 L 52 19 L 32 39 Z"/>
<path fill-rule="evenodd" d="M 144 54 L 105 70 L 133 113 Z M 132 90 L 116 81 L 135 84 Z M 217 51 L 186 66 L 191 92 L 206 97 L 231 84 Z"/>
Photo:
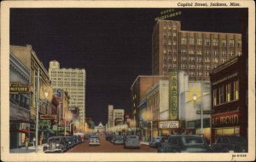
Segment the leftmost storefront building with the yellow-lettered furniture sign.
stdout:
<path fill-rule="evenodd" d="M 29 69 L 9 55 L 9 147 L 20 148 L 30 133 Z M 22 89 L 22 90 L 21 90 Z"/>

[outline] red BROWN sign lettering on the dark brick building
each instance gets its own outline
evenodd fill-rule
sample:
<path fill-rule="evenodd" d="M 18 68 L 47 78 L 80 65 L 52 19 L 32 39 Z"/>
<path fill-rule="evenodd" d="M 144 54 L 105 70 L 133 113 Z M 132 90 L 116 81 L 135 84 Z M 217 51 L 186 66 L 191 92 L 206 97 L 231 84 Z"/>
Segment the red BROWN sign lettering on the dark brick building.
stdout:
<path fill-rule="evenodd" d="M 212 114 L 212 127 L 230 126 L 239 124 L 239 113 Z"/>

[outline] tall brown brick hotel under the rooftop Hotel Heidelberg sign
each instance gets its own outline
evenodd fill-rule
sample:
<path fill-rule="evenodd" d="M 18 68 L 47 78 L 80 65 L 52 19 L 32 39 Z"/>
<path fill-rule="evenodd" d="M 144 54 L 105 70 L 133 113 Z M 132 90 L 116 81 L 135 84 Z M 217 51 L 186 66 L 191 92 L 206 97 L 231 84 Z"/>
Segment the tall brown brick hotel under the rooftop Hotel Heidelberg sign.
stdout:
<path fill-rule="evenodd" d="M 152 74 L 183 70 L 189 80 L 209 80 L 213 68 L 241 51 L 241 34 L 182 31 L 180 21 L 158 20 L 152 34 Z"/>

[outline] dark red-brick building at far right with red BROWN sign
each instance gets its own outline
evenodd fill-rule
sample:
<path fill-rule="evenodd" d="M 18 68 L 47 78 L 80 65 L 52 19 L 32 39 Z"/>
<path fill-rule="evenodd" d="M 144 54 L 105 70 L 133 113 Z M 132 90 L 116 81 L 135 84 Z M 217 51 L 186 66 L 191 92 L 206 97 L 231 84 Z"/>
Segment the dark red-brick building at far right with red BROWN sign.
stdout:
<path fill-rule="evenodd" d="M 237 56 L 212 70 L 212 142 L 221 135 L 247 137 L 247 57 Z"/>

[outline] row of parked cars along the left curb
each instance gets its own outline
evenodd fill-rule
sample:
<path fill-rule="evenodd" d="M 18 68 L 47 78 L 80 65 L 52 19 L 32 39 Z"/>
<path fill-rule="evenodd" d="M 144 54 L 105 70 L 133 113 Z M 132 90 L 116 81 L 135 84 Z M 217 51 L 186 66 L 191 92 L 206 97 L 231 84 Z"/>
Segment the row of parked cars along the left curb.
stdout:
<path fill-rule="evenodd" d="M 50 136 L 43 150 L 44 153 L 63 153 L 81 142 L 81 136 Z"/>

